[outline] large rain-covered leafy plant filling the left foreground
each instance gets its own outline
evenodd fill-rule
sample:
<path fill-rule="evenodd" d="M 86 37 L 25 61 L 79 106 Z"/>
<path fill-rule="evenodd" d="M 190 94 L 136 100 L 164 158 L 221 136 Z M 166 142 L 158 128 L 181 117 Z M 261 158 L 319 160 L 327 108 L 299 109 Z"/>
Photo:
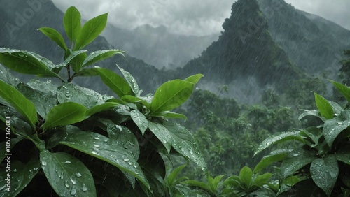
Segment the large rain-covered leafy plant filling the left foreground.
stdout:
<path fill-rule="evenodd" d="M 167 188 L 177 183 L 172 175 L 165 181 L 165 160 L 171 154 L 207 168 L 190 131 L 168 120 L 186 118 L 170 110 L 190 97 L 203 75 L 170 80 L 154 95 L 141 96 L 136 80 L 123 68 L 118 67 L 124 78 L 106 68 L 87 68 L 124 53 L 83 50 L 103 31 L 107 14 L 83 27 L 80 20 L 75 7 L 66 10 L 64 30 L 71 48 L 55 29 L 38 29 L 64 50 L 62 64 L 34 52 L 0 48 L 0 63 L 7 68 L 61 82 L 13 85 L 10 74 L 1 76 L 0 131 L 6 136 L 0 143 L 1 166 L 8 162 L 5 151 L 13 156 L 9 171 L 1 170 L 0 184 L 5 185 L 8 176 L 13 184 L 10 189 L 1 187 L 0 196 L 169 196 Z M 118 97 L 72 83 L 76 77 L 92 76 L 101 78 Z"/>

